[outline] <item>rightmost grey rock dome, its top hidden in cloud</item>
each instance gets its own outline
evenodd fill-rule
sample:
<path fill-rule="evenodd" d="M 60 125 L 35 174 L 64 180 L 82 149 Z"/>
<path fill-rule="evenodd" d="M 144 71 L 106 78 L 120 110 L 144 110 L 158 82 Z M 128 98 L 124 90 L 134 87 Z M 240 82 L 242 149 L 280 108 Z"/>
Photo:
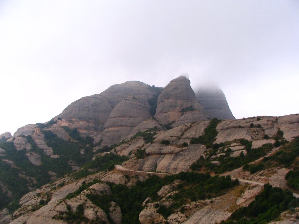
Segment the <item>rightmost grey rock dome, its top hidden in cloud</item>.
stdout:
<path fill-rule="evenodd" d="M 225 95 L 219 87 L 202 87 L 195 95 L 198 102 L 210 115 L 210 118 L 235 119 Z"/>

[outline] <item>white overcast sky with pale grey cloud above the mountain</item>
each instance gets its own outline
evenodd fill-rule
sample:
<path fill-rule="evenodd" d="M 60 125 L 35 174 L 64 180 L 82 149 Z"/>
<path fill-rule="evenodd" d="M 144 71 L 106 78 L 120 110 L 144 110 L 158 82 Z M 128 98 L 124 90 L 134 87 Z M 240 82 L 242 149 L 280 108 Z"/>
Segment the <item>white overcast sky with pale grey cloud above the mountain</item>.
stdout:
<path fill-rule="evenodd" d="M 299 1 L 0 1 L 0 134 L 184 73 L 216 80 L 236 118 L 299 113 Z"/>

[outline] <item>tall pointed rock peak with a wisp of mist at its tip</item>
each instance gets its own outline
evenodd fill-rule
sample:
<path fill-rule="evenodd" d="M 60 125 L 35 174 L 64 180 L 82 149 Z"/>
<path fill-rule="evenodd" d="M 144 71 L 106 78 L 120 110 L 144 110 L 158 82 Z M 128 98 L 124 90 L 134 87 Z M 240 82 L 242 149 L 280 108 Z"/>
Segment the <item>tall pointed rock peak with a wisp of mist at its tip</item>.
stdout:
<path fill-rule="evenodd" d="M 180 76 L 170 81 L 160 94 L 155 117 L 162 124 L 176 122 L 174 126 L 177 126 L 208 120 L 209 115 L 196 100 L 190 80 Z"/>

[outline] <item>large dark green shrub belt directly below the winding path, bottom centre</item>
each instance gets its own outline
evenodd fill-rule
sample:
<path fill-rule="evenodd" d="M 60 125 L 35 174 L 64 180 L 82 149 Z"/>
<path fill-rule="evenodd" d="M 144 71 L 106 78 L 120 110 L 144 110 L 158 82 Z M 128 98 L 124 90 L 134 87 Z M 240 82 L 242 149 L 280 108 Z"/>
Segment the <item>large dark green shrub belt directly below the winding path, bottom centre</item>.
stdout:
<path fill-rule="evenodd" d="M 108 218 L 110 203 L 114 201 L 120 206 L 123 215 L 122 223 L 140 223 L 139 214 L 144 208 L 142 202 L 144 202 L 147 197 L 158 201 L 159 197 L 156 193 L 163 185 L 170 184 L 176 179 L 179 179 L 181 184 L 175 189 L 178 190 L 179 193 L 173 196 L 173 203 L 170 206 L 156 205 L 158 211 L 160 211 L 164 217 L 173 213 L 175 209 L 180 208 L 184 203 L 190 202 L 191 199 L 205 199 L 207 197 L 221 195 L 223 194 L 223 190 L 238 184 L 238 181 L 231 181 L 229 176 L 211 177 L 209 174 L 181 172 L 176 175 L 166 176 L 163 179 L 153 175 L 144 182 L 138 181 L 136 185 L 130 188 L 126 185 L 108 183 L 112 194 L 89 194 L 87 197 L 95 205 L 102 208 Z"/>

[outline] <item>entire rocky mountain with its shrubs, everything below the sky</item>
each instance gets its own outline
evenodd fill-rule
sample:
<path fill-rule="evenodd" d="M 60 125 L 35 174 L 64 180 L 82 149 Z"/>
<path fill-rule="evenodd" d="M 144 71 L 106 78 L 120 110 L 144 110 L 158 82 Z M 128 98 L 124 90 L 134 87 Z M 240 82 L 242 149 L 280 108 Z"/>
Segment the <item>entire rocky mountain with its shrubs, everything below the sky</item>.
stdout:
<path fill-rule="evenodd" d="M 125 82 L 2 134 L 0 223 L 298 223 L 299 115 L 201 91 Z"/>

